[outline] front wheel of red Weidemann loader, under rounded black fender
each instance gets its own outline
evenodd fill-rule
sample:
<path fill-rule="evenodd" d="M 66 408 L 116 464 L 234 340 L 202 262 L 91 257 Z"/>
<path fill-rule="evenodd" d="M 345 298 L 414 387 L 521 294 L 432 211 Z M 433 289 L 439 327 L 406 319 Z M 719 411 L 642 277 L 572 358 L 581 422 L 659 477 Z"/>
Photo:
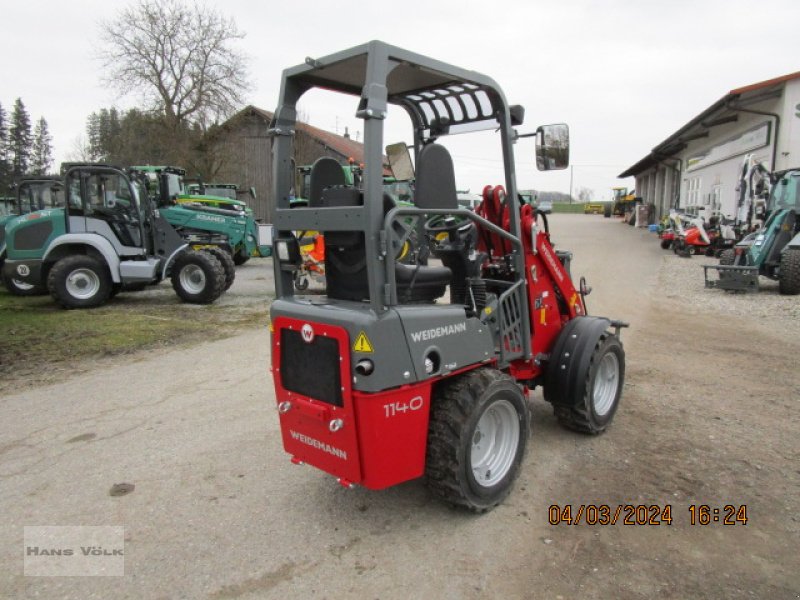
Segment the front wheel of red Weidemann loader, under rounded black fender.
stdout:
<path fill-rule="evenodd" d="M 556 418 L 575 431 L 603 432 L 617 412 L 624 379 L 622 344 L 616 336 L 604 334 L 592 352 L 583 397 L 574 406 L 555 405 Z"/>

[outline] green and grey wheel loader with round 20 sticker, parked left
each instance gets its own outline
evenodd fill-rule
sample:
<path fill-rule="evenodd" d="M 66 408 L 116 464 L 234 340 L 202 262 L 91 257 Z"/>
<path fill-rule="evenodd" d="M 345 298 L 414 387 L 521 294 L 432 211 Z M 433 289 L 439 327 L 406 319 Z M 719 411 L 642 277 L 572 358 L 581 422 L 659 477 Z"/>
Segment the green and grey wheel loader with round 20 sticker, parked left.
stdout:
<path fill-rule="evenodd" d="M 151 201 L 144 182 L 108 165 L 62 168 L 66 203 L 6 225 L 3 278 L 45 287 L 64 308 L 93 308 L 117 292 L 169 278 L 184 302 L 225 291 L 221 250 L 193 250 Z"/>

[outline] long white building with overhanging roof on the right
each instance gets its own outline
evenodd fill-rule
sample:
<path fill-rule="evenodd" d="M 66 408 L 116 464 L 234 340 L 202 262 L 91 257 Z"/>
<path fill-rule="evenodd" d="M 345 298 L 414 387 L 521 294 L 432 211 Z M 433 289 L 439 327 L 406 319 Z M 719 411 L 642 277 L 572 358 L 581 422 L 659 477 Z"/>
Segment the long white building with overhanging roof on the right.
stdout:
<path fill-rule="evenodd" d="M 800 72 L 731 90 L 619 176 L 636 178 L 657 217 L 734 217 L 748 154 L 770 171 L 800 168 Z"/>

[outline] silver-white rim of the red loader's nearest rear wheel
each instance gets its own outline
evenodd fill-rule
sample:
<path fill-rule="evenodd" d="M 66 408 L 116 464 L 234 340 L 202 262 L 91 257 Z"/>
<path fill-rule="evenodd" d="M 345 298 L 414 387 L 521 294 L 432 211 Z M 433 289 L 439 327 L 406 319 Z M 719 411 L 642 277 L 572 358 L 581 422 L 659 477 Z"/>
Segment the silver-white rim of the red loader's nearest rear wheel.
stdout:
<path fill-rule="evenodd" d="M 481 415 L 472 434 L 470 466 L 478 485 L 490 487 L 506 476 L 519 445 L 519 417 L 508 400 L 496 400 Z"/>

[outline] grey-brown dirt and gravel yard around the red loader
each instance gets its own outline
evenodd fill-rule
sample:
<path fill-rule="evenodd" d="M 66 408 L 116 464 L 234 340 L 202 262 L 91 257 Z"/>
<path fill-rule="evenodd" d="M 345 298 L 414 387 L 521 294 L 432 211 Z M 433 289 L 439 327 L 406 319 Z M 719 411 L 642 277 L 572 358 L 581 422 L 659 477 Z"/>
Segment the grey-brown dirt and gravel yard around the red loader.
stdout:
<path fill-rule="evenodd" d="M 602 216 L 551 229 L 590 312 L 631 324 L 624 395 L 585 437 L 536 390 L 521 477 L 494 511 L 291 465 L 257 327 L 0 396 L 0 596 L 799 598 L 800 298 L 705 290 L 708 259 Z M 266 266 L 244 273 L 269 293 Z M 116 483 L 135 489 L 112 497 Z M 552 505 L 580 522 L 551 525 Z M 616 524 L 586 524 L 603 505 L 623 507 Z M 641 521 L 625 505 L 658 507 L 659 524 L 623 524 Z M 693 505 L 720 521 L 732 505 L 735 524 L 693 525 Z M 125 576 L 23 576 L 26 525 L 124 526 Z"/>

